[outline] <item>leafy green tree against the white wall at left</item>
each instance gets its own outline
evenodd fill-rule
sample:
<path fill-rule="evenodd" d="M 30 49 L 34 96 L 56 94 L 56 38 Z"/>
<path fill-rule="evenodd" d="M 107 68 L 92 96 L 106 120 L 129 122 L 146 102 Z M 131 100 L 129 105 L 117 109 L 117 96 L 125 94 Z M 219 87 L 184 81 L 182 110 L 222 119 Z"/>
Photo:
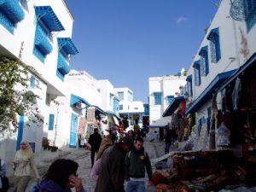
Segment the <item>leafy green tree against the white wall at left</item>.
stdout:
<path fill-rule="evenodd" d="M 31 79 L 30 72 L 35 69 L 21 63 L 23 42 L 20 46 L 18 60 L 0 57 L 0 133 L 9 128 L 9 123 L 14 125 L 16 131 L 18 122 L 17 114 L 26 115 L 28 123 L 43 121 L 35 103 L 39 96 L 29 91 Z"/>

